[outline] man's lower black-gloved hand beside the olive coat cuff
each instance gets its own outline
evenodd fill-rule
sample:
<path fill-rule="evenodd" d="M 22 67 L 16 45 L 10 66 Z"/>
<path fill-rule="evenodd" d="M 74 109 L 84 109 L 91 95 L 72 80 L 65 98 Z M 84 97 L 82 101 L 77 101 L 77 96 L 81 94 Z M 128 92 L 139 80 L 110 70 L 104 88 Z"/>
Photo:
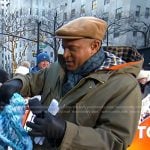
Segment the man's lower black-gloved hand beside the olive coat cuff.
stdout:
<path fill-rule="evenodd" d="M 58 147 L 61 144 L 66 130 L 66 121 L 49 112 L 45 112 L 43 118 L 35 117 L 34 123 L 27 122 L 26 125 L 32 128 L 29 132 L 30 136 L 44 136 L 52 147 Z"/>

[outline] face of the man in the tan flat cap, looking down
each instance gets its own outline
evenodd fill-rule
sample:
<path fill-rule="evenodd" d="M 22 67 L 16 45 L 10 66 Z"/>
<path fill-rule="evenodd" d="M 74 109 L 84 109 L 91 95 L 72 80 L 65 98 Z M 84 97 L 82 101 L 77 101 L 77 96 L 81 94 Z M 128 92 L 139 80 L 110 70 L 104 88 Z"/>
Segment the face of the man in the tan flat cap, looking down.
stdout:
<path fill-rule="evenodd" d="M 75 71 L 99 49 L 99 41 L 93 39 L 62 40 L 67 70 Z"/>

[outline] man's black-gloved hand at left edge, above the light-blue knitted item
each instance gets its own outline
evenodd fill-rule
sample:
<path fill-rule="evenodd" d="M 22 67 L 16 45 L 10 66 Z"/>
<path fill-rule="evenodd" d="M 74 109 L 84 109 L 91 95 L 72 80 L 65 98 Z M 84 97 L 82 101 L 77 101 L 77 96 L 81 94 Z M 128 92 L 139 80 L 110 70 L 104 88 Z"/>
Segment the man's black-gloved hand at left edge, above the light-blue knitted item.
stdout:
<path fill-rule="evenodd" d="M 0 87 L 0 107 L 3 108 L 6 104 L 9 104 L 9 99 L 15 92 L 19 93 L 22 88 L 21 80 L 10 80 L 5 82 Z"/>

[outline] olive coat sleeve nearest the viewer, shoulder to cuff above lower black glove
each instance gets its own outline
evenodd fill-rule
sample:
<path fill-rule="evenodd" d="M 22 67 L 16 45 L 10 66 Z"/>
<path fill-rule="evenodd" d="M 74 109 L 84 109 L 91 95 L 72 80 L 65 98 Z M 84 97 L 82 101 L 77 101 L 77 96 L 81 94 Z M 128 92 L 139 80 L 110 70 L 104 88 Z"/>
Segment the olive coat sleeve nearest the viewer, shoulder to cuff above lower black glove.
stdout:
<path fill-rule="evenodd" d="M 117 82 L 110 83 L 112 87 L 115 86 L 113 88 L 106 86 L 106 103 L 103 110 L 99 112 L 94 127 L 67 122 L 65 136 L 60 146 L 61 150 L 127 149 L 137 129 L 141 93 L 138 83 L 131 78 L 125 82 L 123 79 Z M 102 95 L 99 91 L 95 93 L 95 98 L 100 98 Z"/>

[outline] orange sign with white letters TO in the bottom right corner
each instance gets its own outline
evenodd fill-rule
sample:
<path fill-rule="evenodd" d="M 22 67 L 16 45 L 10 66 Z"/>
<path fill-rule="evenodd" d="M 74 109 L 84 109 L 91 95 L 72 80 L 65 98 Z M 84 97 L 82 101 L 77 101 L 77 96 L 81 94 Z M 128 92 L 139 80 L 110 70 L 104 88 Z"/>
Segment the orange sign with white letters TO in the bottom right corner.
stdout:
<path fill-rule="evenodd" d="M 139 124 L 136 135 L 128 150 L 148 150 L 150 145 L 150 117 Z"/>

